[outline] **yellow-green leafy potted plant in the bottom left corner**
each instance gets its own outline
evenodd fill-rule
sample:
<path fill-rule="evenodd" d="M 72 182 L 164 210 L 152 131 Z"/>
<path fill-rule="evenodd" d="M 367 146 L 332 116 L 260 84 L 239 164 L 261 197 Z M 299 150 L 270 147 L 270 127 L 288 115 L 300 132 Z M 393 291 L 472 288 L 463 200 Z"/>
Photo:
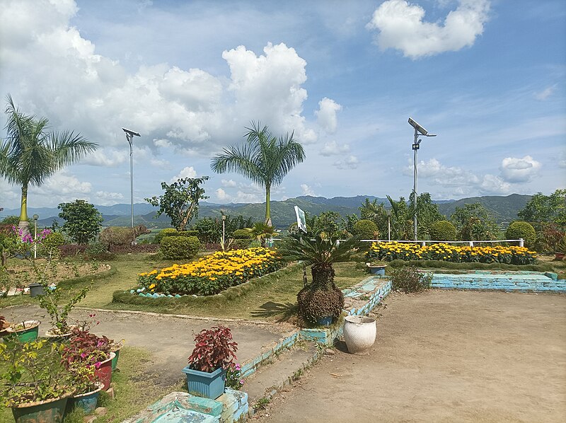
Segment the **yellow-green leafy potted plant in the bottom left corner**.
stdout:
<path fill-rule="evenodd" d="M 61 354 L 61 345 L 45 339 L 0 344 L 0 404 L 16 423 L 62 422 L 73 388 Z"/>

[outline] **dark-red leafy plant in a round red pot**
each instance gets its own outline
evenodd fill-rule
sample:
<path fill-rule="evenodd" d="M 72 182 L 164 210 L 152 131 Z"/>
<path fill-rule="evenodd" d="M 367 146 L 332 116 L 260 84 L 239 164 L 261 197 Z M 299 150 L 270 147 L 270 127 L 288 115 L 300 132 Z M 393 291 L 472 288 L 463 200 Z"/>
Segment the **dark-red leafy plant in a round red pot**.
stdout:
<path fill-rule="evenodd" d="M 69 344 L 63 349 L 63 359 L 68 369 L 74 366 L 93 366 L 96 379 L 103 383 L 104 390 L 110 388 L 112 381 L 112 359 L 115 354 L 110 351 L 112 340 L 98 337 L 88 328 L 73 328 Z"/>

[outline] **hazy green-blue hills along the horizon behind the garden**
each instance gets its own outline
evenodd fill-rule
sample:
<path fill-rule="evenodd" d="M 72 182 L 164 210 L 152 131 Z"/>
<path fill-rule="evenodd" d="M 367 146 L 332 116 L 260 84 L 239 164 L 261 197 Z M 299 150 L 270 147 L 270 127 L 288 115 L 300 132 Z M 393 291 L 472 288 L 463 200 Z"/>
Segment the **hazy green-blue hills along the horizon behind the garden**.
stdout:
<path fill-rule="evenodd" d="M 321 212 L 338 212 L 342 216 L 346 214 L 357 214 L 359 216 L 358 207 L 368 198 L 370 201 L 374 199 L 378 203 L 388 204 L 386 198 L 374 197 L 371 195 L 358 195 L 356 197 L 312 197 L 304 195 L 296 198 L 289 198 L 284 201 L 271 202 L 271 214 L 273 223 L 279 228 L 286 228 L 295 221 L 294 206 L 299 206 L 305 212 L 310 214 L 320 214 Z M 492 195 L 484 197 L 469 197 L 458 200 L 439 200 L 434 201 L 438 204 L 439 212 L 445 216 L 450 216 L 456 210 L 456 207 L 464 207 L 464 204 L 481 203 L 500 225 L 507 225 L 510 221 L 517 219 L 517 212 L 523 209 L 527 202 L 531 199 L 530 195 L 512 194 L 507 197 Z M 98 211 L 102 213 L 104 218 L 104 226 L 129 226 L 130 204 L 114 204 L 112 206 L 96 206 Z M 148 203 L 134 204 L 134 224 L 144 224 L 152 228 L 166 228 L 169 226 L 170 220 L 167 216 L 162 215 L 158 219 L 154 219 L 156 207 Z M 28 209 L 28 215 L 38 214 L 40 219 L 38 224 L 41 226 L 51 226 L 53 220 L 62 224 L 62 219 L 57 215 L 60 210 L 56 207 L 41 207 Z M 219 217 L 221 213 L 237 216 L 241 214 L 246 218 L 251 217 L 255 221 L 263 220 L 265 216 L 265 203 L 254 204 L 215 204 L 210 202 L 201 202 L 199 208 L 199 217 Z M 19 209 L 4 209 L 0 212 L 0 218 L 10 216 L 12 214 L 20 214 Z"/>

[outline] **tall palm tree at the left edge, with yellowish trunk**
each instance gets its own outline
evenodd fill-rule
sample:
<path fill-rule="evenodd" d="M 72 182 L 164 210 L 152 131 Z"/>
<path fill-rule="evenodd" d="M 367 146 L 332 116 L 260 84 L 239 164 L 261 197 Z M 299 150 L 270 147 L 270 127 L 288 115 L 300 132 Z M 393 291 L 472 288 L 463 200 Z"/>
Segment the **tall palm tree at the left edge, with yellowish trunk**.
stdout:
<path fill-rule="evenodd" d="M 6 98 L 6 132 L 0 144 L 0 176 L 22 187 L 20 228 L 28 232 L 28 187 L 40 186 L 60 168 L 79 161 L 97 144 L 74 132 L 46 132 L 45 117 L 24 115 Z"/>

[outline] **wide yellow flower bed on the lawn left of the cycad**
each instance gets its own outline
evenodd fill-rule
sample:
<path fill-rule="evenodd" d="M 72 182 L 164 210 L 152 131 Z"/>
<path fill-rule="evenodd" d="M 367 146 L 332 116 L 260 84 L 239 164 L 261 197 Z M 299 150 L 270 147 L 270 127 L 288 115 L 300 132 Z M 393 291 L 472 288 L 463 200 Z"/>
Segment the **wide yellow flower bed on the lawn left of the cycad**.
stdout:
<path fill-rule="evenodd" d="M 173 265 L 138 275 L 139 286 L 149 293 L 214 295 L 275 272 L 284 263 L 275 250 L 249 248 L 219 251 L 186 265 Z"/>

